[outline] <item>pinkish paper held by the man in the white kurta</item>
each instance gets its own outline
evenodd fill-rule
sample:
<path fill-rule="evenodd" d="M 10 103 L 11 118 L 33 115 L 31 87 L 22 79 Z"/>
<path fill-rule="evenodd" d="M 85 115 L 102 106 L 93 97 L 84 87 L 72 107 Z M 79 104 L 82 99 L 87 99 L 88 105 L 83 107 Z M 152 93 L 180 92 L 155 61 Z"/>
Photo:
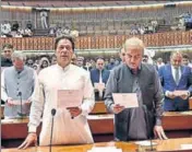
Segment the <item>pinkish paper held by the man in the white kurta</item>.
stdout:
<path fill-rule="evenodd" d="M 83 93 L 80 90 L 58 90 L 58 108 L 79 107 Z"/>

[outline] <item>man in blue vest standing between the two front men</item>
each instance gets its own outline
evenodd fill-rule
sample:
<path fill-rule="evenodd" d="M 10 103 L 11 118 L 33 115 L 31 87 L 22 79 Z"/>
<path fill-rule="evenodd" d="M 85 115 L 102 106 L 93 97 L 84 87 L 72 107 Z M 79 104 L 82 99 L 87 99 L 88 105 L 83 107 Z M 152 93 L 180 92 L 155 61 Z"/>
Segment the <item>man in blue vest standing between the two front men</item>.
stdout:
<path fill-rule="evenodd" d="M 104 85 L 107 83 L 110 71 L 104 69 L 104 67 L 105 67 L 104 58 L 98 57 L 96 60 L 96 68 L 91 70 L 91 80 L 94 86 L 95 83 L 103 83 Z M 99 91 L 98 89 L 95 89 L 95 101 L 103 101 L 104 100 L 103 96 L 104 90 Z"/>

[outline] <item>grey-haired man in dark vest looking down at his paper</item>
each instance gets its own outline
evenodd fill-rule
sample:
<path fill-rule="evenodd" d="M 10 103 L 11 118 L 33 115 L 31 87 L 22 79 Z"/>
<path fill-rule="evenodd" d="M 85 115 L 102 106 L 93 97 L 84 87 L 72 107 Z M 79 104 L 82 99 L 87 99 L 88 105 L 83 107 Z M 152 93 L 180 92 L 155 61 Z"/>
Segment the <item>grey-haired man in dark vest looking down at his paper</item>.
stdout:
<path fill-rule="evenodd" d="M 154 132 L 167 139 L 161 127 L 164 93 L 154 66 L 142 63 L 144 44 L 132 37 L 127 39 L 124 50 L 125 63 L 111 71 L 105 94 L 107 109 L 115 114 L 115 138 L 146 140 Z M 136 93 L 139 107 L 115 104 L 112 93 Z"/>

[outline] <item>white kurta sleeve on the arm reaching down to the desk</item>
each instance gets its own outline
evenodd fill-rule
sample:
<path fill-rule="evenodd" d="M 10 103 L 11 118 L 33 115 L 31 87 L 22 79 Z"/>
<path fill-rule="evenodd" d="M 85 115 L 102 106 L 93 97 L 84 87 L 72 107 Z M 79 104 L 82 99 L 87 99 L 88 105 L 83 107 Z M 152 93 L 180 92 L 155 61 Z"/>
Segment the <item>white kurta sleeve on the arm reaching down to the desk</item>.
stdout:
<path fill-rule="evenodd" d="M 36 80 L 35 91 L 32 96 L 32 106 L 29 114 L 28 122 L 28 132 L 36 132 L 37 127 L 40 124 L 44 104 L 45 104 L 45 93 L 44 93 L 44 83 L 43 83 L 43 73 L 39 73 L 38 79 Z"/>

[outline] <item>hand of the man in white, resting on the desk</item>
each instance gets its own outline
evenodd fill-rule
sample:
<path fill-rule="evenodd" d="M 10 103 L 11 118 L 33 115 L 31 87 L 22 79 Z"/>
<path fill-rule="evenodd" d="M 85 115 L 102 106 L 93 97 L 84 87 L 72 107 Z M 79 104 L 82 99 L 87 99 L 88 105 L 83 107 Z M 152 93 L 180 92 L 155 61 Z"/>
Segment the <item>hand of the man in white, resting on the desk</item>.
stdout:
<path fill-rule="evenodd" d="M 35 132 L 28 133 L 25 141 L 17 149 L 26 149 L 33 143 L 37 143 L 37 135 Z"/>

